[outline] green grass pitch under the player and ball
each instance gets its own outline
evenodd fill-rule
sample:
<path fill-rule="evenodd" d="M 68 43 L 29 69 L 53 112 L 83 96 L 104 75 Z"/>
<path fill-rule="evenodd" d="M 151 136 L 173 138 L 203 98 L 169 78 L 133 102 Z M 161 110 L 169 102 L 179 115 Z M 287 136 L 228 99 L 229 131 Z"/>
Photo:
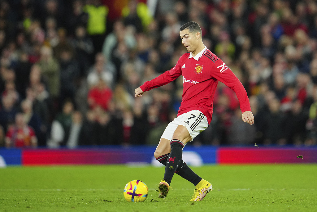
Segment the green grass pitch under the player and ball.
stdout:
<path fill-rule="evenodd" d="M 166 199 L 155 189 L 164 168 L 125 165 L 0 169 L 0 211 L 317 211 L 316 164 L 210 165 L 193 170 L 211 182 L 201 202 L 194 186 L 174 175 Z M 145 202 L 126 202 L 131 180 L 149 188 Z"/>

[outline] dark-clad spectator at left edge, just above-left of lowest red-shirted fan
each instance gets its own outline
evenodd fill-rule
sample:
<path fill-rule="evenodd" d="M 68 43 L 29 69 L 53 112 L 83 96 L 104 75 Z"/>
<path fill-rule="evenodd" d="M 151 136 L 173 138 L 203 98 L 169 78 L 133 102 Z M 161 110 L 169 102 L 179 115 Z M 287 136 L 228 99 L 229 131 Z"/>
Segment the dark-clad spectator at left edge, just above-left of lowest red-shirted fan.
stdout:
<path fill-rule="evenodd" d="M 14 123 L 14 119 L 17 113 L 14 107 L 14 100 L 11 96 L 6 96 L 1 99 L 2 107 L 0 109 L 0 125 L 3 127 L 4 132 L 8 130 L 8 125 Z"/>

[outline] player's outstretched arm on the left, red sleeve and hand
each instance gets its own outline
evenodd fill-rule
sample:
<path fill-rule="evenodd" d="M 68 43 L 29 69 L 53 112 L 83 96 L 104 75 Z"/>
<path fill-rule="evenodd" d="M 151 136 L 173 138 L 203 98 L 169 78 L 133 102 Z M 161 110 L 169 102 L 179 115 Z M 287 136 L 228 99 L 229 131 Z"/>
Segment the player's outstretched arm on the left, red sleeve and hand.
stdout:
<path fill-rule="evenodd" d="M 180 59 L 179 59 L 180 60 Z M 182 68 L 179 65 L 179 60 L 176 63 L 176 65 L 169 71 L 164 72 L 163 74 L 159 75 L 158 77 L 146 81 L 143 85 L 135 89 L 135 97 L 141 97 L 143 92 L 152 90 L 153 88 L 160 87 L 162 85 L 166 85 L 167 83 L 170 83 L 174 79 L 178 78 L 182 75 Z"/>

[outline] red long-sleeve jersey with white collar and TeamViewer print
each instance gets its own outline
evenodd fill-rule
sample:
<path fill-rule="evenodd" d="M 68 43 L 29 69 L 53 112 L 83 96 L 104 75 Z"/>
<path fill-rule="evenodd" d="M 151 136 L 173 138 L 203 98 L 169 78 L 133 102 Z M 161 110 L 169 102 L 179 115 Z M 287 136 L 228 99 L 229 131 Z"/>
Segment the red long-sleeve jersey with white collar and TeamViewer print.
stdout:
<path fill-rule="evenodd" d="M 206 47 L 195 57 L 190 52 L 183 54 L 175 67 L 145 82 L 140 88 L 146 92 L 165 85 L 181 75 L 183 75 L 184 88 L 178 116 L 191 110 L 199 110 L 210 123 L 218 81 L 236 92 L 242 113 L 251 111 L 249 98 L 242 83 L 230 68 Z"/>

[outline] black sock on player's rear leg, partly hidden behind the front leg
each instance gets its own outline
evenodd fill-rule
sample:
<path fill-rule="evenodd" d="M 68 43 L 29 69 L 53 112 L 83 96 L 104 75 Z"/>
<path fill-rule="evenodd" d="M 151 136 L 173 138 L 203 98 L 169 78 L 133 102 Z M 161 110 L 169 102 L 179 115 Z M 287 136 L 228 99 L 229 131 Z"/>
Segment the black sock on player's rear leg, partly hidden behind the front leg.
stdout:
<path fill-rule="evenodd" d="M 168 155 L 169 153 L 161 155 L 158 158 L 156 158 L 156 160 L 162 163 L 164 166 L 166 166 Z M 183 160 L 180 161 L 180 164 L 176 169 L 175 173 L 183 177 L 184 179 L 190 181 L 192 184 L 194 184 L 194 186 L 197 186 L 197 184 L 202 180 L 202 178 L 199 177 L 195 172 L 193 172 L 193 170 L 191 170 L 191 168 L 189 168 Z"/>

